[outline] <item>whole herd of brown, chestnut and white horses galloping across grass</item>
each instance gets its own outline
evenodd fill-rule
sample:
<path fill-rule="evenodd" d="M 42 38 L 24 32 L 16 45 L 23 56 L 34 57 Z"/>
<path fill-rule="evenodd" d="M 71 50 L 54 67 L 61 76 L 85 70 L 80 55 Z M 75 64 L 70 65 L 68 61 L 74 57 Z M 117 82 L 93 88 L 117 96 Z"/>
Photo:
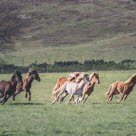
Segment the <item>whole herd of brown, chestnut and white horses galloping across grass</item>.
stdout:
<path fill-rule="evenodd" d="M 29 94 L 28 100 L 31 100 L 31 85 L 33 80 L 40 82 L 39 74 L 34 69 L 30 69 L 27 72 L 27 77 L 25 79 L 22 79 L 21 74 L 22 73 L 20 71 L 16 71 L 9 81 L 0 81 L 0 98 L 2 98 L 2 100 L 0 100 L 1 104 L 4 104 L 11 96 L 13 97 L 13 100 L 15 100 L 16 95 L 22 91 L 25 91 L 26 98 Z M 94 91 L 96 83 L 100 83 L 99 74 L 97 73 L 88 75 L 81 72 L 74 72 L 70 73 L 68 77 L 60 77 L 58 78 L 52 91 L 52 98 L 54 99 L 52 104 L 55 102 L 63 102 L 68 94 L 70 94 L 70 97 L 66 104 L 68 104 L 71 100 L 74 101 L 75 104 L 80 102 L 84 103 Z M 118 102 L 122 100 L 125 101 L 130 92 L 133 90 L 135 84 L 136 73 L 125 82 L 114 82 L 109 86 L 109 89 L 106 92 L 108 100 L 111 101 L 114 95 L 121 94 L 121 98 Z M 77 96 L 76 99 L 74 99 L 74 95 Z"/>

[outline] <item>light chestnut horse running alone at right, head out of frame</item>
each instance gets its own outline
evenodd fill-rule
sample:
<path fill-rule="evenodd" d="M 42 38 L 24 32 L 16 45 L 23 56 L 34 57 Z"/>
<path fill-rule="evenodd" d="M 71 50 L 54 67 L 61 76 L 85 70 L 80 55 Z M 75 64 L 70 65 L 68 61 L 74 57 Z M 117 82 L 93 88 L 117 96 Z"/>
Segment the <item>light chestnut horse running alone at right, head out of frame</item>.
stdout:
<path fill-rule="evenodd" d="M 121 94 L 122 97 L 118 102 L 125 101 L 127 96 L 130 94 L 130 92 L 133 90 L 134 85 L 136 84 L 136 73 L 133 74 L 127 81 L 116 81 L 115 83 L 111 84 L 108 92 L 106 93 L 108 95 L 108 100 L 111 101 L 113 98 L 113 95 Z"/>

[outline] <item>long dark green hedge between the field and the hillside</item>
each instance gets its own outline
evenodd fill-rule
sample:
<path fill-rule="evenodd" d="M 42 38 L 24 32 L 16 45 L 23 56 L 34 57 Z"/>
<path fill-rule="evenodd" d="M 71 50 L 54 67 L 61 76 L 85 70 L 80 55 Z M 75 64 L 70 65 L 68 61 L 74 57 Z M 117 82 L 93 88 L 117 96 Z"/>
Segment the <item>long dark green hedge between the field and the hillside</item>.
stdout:
<path fill-rule="evenodd" d="M 27 72 L 29 68 L 34 68 L 39 72 L 72 72 L 89 70 L 132 70 L 136 69 L 136 60 L 123 60 L 121 62 L 104 60 L 78 61 L 56 61 L 53 64 L 32 63 L 29 66 L 15 66 L 14 64 L 0 64 L 0 73 L 12 73 L 15 70 Z"/>

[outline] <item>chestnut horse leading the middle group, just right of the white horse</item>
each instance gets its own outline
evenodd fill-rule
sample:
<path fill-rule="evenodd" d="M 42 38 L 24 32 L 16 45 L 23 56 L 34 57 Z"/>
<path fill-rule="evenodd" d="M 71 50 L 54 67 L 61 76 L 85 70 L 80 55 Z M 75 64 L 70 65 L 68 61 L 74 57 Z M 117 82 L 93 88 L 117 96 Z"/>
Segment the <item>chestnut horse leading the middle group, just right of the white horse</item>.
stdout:
<path fill-rule="evenodd" d="M 90 75 L 90 83 L 91 85 L 85 84 L 83 92 L 82 92 L 82 97 L 80 101 L 83 101 L 83 103 L 87 100 L 87 98 L 91 95 L 91 93 L 94 91 L 94 86 L 95 83 L 100 83 L 99 80 L 99 75 L 96 73 L 92 73 Z"/>

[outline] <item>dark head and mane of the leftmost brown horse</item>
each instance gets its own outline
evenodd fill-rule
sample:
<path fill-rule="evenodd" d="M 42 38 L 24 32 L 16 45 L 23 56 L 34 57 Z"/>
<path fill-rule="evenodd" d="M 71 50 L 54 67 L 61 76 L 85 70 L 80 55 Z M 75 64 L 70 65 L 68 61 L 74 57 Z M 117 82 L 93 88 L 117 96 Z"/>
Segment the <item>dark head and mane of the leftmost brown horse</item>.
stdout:
<path fill-rule="evenodd" d="M 15 71 L 13 76 L 11 77 L 11 81 L 13 83 L 20 83 L 21 85 L 23 84 L 22 82 L 22 73 L 20 71 Z"/>

